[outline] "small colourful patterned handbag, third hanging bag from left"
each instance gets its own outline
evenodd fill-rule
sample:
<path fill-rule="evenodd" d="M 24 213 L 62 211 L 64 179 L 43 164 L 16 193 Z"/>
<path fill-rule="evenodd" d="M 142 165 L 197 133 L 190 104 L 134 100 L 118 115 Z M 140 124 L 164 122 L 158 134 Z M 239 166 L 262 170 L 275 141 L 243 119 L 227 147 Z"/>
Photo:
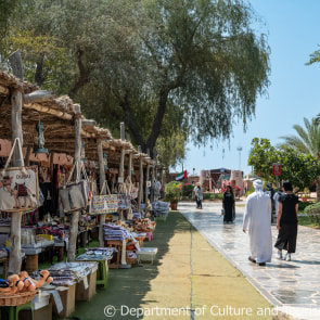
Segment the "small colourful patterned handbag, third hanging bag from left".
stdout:
<path fill-rule="evenodd" d="M 104 188 L 107 190 L 107 194 L 102 194 Z M 114 214 L 118 210 L 118 196 L 117 194 L 111 194 L 107 181 L 104 181 L 100 195 L 93 195 L 91 202 L 91 215 L 106 215 Z"/>

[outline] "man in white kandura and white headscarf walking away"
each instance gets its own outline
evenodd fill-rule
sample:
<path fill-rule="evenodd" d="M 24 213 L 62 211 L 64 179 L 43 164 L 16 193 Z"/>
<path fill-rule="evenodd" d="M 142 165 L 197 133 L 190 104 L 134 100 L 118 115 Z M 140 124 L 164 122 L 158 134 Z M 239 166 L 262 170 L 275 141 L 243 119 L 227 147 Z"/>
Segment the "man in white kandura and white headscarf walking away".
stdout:
<path fill-rule="evenodd" d="M 263 191 L 263 181 L 254 181 L 255 192 L 252 193 L 245 205 L 243 216 L 243 232 L 248 230 L 251 256 L 248 259 L 265 266 L 271 261 L 272 234 L 271 234 L 271 199 Z"/>

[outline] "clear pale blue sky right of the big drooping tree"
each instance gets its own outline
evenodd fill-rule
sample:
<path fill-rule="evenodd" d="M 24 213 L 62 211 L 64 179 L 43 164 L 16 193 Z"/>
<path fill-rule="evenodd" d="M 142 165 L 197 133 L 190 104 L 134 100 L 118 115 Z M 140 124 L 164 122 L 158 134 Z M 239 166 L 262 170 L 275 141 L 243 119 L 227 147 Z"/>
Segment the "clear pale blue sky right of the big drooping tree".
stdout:
<path fill-rule="evenodd" d="M 244 133 L 242 125 L 233 128 L 230 141 L 216 141 L 214 148 L 189 151 L 183 168 L 189 174 L 202 169 L 225 167 L 251 172 L 247 158 L 253 138 L 267 138 L 276 145 L 280 137 L 295 135 L 293 125 L 304 126 L 304 117 L 311 119 L 320 113 L 320 63 L 305 65 L 309 55 L 320 47 L 319 0 L 251 0 L 264 20 L 259 29 L 268 35 L 270 55 L 270 86 L 268 97 L 259 98 L 256 115 Z M 236 149 L 242 146 L 242 151 Z M 223 154 L 225 150 L 225 154 Z M 177 166 L 177 171 L 182 167 Z"/>

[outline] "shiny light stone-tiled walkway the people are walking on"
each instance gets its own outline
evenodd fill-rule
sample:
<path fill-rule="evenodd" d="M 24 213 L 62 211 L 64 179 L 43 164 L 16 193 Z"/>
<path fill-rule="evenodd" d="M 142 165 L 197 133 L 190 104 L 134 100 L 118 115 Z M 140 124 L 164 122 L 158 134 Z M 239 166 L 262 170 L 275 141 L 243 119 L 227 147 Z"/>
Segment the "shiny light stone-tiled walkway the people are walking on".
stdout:
<path fill-rule="evenodd" d="M 292 261 L 278 260 L 277 249 L 266 267 L 247 260 L 248 235 L 242 232 L 244 202 L 236 203 L 234 225 L 223 225 L 221 203 L 179 203 L 178 209 L 276 307 L 296 319 L 320 319 L 320 231 L 299 227 Z M 278 230 L 272 226 L 273 243 Z"/>

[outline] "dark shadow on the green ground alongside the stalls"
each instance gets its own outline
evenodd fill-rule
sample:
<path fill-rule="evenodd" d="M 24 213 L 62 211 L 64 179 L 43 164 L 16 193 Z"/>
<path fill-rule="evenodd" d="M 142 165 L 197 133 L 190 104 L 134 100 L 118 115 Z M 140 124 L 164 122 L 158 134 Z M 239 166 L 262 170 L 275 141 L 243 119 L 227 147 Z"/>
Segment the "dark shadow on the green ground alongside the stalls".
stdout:
<path fill-rule="evenodd" d="M 90 302 L 76 302 L 73 317 L 81 320 L 141 319 L 137 315 L 124 316 L 124 312 L 127 312 L 128 308 L 133 308 L 135 312 L 141 306 L 143 297 L 151 289 L 151 280 L 158 274 L 159 261 L 169 249 L 169 241 L 177 232 L 190 232 L 190 223 L 178 212 L 170 212 L 166 220 L 157 219 L 153 240 L 144 241 L 144 246 L 158 248 L 154 265 L 146 263 L 136 264 L 131 269 L 111 269 L 107 289 L 98 289 L 97 295 Z M 106 306 L 114 308 L 116 311 L 114 317 L 104 315 Z M 62 318 L 56 319 L 62 320 Z"/>

